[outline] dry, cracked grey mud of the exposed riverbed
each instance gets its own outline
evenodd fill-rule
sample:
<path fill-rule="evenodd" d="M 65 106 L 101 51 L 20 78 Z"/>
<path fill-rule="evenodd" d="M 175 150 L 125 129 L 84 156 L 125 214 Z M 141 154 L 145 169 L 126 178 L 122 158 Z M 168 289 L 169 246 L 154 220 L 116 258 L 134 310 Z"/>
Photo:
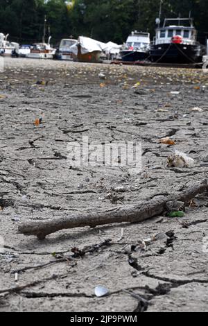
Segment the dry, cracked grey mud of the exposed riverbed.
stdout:
<path fill-rule="evenodd" d="M 39 80 L 49 83 L 36 85 Z M 207 178 L 207 87 L 201 70 L 6 60 L 0 75 L 0 311 L 208 310 L 207 194 L 183 218 L 63 230 L 44 241 L 17 233 L 25 221 L 136 204 Z M 34 126 L 39 118 L 42 124 Z M 142 171 L 71 167 L 67 144 L 83 136 L 142 141 Z M 166 167 L 174 151 L 159 144 L 166 136 L 193 157 L 193 168 Z M 122 200 L 112 203 L 110 192 Z M 171 241 L 128 252 L 171 230 Z M 72 248 L 106 239 L 110 246 L 67 259 Z M 107 297 L 96 298 L 98 285 L 107 287 Z"/>

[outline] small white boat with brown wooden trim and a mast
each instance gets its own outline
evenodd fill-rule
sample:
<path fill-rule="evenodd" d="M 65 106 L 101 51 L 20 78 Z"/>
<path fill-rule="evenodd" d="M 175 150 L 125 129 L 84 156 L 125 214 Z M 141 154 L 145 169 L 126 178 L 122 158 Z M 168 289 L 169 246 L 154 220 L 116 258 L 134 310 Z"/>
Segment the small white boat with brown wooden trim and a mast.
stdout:
<path fill-rule="evenodd" d="M 31 46 L 30 53 L 26 54 L 26 58 L 31 59 L 53 59 L 55 49 L 50 44 L 51 36 L 48 43 L 35 43 Z"/>

